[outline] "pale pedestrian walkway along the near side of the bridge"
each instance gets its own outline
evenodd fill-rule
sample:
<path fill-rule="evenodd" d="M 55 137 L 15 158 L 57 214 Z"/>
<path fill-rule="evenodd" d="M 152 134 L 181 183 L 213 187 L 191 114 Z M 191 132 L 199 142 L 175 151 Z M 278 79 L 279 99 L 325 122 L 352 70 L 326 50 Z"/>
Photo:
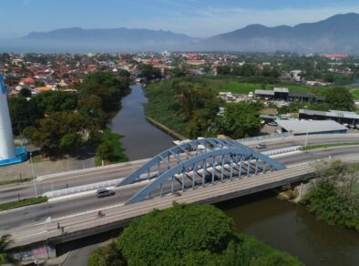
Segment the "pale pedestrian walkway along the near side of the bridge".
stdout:
<path fill-rule="evenodd" d="M 311 172 L 313 172 L 313 166 L 309 163 L 304 163 L 289 169 L 273 171 L 258 176 L 228 179 L 224 182 L 220 181 L 216 185 L 208 184 L 203 188 L 187 190 L 181 196 L 167 195 L 162 198 L 153 198 L 130 205 L 114 206 L 103 210 L 105 216 L 102 218 L 97 218 L 97 211 L 94 210 L 90 213 L 78 214 L 77 216 L 61 220 L 52 220 L 44 225 L 33 228 L 30 233 L 31 235 L 28 236 L 24 236 L 23 231 L 21 233 L 22 236 L 16 237 L 17 230 L 15 232 L 13 230 L 15 246 L 24 246 L 43 240 L 53 240 L 54 242 L 74 240 L 82 236 L 126 225 L 131 219 L 142 216 L 153 209 L 163 210 L 169 208 L 174 200 L 179 203 L 216 203 L 223 200 L 231 200 L 265 189 L 273 189 L 289 184 Z M 59 222 L 61 227 L 64 227 L 64 233 L 62 233 L 62 230 L 57 229 L 57 222 Z"/>

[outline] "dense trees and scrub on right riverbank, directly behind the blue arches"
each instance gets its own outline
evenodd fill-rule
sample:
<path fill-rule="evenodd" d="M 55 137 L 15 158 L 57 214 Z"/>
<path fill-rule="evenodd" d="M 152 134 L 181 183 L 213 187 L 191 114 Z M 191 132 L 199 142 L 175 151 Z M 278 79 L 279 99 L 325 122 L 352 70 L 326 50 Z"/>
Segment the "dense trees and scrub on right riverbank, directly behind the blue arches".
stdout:
<path fill-rule="evenodd" d="M 210 85 L 210 78 L 182 77 L 151 84 L 145 87 L 149 98 L 145 114 L 188 138 L 223 133 L 243 138 L 257 134 L 261 126 L 259 106 L 225 105 L 217 91 Z M 221 118 L 217 116 L 220 105 L 226 109 Z M 233 117 L 239 113 L 241 118 Z M 229 124 L 233 119 L 235 128 Z"/>

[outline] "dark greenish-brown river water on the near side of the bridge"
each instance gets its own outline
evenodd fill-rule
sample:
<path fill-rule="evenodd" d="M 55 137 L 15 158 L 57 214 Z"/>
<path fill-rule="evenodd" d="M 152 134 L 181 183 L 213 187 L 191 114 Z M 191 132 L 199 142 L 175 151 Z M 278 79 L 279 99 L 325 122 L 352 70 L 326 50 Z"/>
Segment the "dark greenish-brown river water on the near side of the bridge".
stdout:
<path fill-rule="evenodd" d="M 359 234 L 328 226 L 303 206 L 277 200 L 271 192 L 218 206 L 236 221 L 241 232 L 287 251 L 307 265 L 358 265 Z"/>

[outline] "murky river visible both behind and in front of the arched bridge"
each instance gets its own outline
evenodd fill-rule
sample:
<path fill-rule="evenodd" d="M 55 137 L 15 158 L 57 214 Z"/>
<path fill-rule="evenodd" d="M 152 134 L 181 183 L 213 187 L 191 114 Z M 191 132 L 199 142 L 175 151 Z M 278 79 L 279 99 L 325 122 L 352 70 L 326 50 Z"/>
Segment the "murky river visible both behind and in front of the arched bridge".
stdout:
<path fill-rule="evenodd" d="M 150 158 L 173 146 L 172 138 L 152 127 L 143 115 L 146 97 L 139 85 L 122 99 L 122 109 L 110 128 L 121 139 L 129 159 Z M 261 193 L 218 204 L 239 231 L 287 251 L 307 265 L 359 265 L 359 234 L 328 226 L 303 208 Z"/>

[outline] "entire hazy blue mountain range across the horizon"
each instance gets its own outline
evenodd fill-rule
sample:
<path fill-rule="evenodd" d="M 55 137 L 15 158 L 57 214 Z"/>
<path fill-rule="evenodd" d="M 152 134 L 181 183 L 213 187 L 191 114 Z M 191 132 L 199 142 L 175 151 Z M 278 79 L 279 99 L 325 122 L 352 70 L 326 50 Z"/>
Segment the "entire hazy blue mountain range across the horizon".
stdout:
<path fill-rule="evenodd" d="M 2 45 L 3 44 L 3 45 Z M 6 44 L 6 42 L 5 42 Z M 333 15 L 323 21 L 297 26 L 250 25 L 208 38 L 196 38 L 149 29 L 56 29 L 32 32 L 8 42 L 13 51 L 289 51 L 306 53 L 359 53 L 359 14 Z M 0 43 L 0 50 L 4 50 Z"/>

